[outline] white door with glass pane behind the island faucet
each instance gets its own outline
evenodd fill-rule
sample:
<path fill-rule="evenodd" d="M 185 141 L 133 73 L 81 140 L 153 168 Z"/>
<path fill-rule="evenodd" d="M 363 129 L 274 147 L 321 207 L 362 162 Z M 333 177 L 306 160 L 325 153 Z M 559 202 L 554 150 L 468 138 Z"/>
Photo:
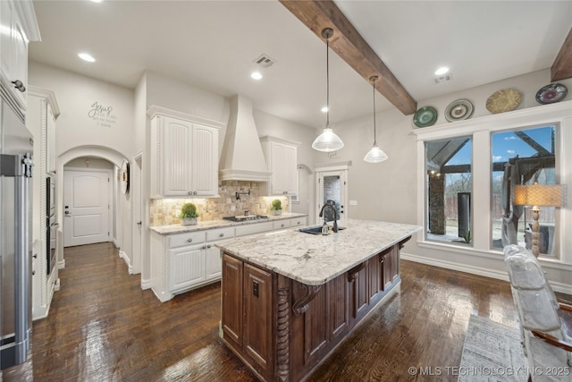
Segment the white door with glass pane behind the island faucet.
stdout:
<path fill-rule="evenodd" d="M 348 226 L 348 214 L 346 214 L 346 206 L 348 205 L 348 170 L 333 170 L 316 169 L 316 203 L 317 209 L 315 212 L 316 223 L 320 224 L 324 221 L 324 216 L 319 217 L 320 210 L 328 200 L 333 200 L 338 210 L 338 225 Z M 324 211 L 328 215 L 333 216 L 332 211 L 326 208 Z M 331 221 L 332 219 L 328 219 Z"/>

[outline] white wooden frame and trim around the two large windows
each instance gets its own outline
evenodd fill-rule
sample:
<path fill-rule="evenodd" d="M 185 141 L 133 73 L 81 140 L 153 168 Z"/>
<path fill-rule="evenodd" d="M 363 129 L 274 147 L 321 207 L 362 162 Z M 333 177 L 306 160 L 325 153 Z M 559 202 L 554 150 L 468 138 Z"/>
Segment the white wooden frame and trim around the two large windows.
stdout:
<path fill-rule="evenodd" d="M 442 123 L 430 127 L 413 129 L 416 135 L 417 155 L 417 224 L 424 227 L 417 233 L 419 247 L 453 250 L 471 255 L 497 257 L 502 250 L 491 248 L 492 240 L 492 133 L 509 130 L 555 125 L 559 130 L 559 140 L 555 142 L 557 152 L 556 179 L 559 184 L 572 183 L 572 150 L 564 148 L 572 144 L 572 101 L 557 104 L 529 107 L 499 115 L 485 115 L 474 119 L 454 123 Z M 427 195 L 425 189 L 425 142 L 447 140 L 461 136 L 472 136 L 473 139 L 473 195 L 471 199 L 473 211 L 487 211 L 473 214 L 473 247 L 460 247 L 447 242 L 427 241 L 425 222 L 427 221 Z M 487 156 L 475 153 L 488 153 Z M 568 187 L 567 199 L 570 200 Z M 567 237 L 567 230 L 572 229 L 572 214 L 565 205 L 560 208 L 559 216 L 559 259 L 547 258 L 548 261 L 572 263 L 572 237 Z M 569 235 L 568 235 L 569 236 Z"/>

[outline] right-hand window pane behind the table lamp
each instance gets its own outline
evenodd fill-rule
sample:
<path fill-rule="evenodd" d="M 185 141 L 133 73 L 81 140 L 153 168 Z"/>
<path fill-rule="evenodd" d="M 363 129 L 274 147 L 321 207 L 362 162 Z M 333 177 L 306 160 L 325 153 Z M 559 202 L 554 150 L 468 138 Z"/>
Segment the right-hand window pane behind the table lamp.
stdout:
<path fill-rule="evenodd" d="M 556 184 L 557 129 L 554 125 L 493 132 L 492 145 L 492 241 L 493 249 L 505 243 L 532 247 L 532 212 L 514 205 L 517 184 Z M 542 207 L 539 250 L 554 256 L 558 242 L 558 210 Z"/>

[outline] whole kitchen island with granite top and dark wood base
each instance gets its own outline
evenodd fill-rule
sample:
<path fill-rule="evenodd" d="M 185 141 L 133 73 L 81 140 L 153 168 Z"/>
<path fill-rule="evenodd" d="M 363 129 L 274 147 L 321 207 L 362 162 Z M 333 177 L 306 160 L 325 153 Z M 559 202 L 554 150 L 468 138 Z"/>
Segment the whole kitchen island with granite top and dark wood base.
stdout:
<path fill-rule="evenodd" d="M 349 219 L 339 233 L 298 229 L 223 250 L 223 343 L 265 381 L 299 381 L 392 293 L 417 225 Z"/>

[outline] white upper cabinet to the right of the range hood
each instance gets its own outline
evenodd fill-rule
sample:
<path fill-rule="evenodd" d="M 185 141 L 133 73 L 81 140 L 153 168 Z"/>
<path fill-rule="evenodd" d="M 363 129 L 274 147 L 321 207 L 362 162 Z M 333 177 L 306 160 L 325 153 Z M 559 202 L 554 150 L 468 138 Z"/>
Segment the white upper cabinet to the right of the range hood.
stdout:
<path fill-rule="evenodd" d="M 261 195 L 293 195 L 298 193 L 299 142 L 265 136 L 260 139 L 265 153 L 270 182 L 263 183 Z"/>

